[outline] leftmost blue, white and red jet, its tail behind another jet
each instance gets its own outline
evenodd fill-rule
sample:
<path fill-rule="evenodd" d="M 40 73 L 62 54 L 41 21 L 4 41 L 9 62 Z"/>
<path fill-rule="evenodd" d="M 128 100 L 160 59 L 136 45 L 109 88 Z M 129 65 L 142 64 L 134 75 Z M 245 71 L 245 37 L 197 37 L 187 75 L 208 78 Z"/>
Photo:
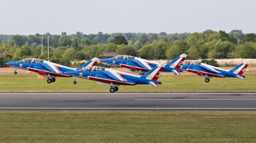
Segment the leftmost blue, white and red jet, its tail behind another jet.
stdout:
<path fill-rule="evenodd" d="M 69 68 L 67 66 L 63 66 L 61 64 L 52 63 L 50 61 L 45 61 L 43 59 L 36 58 L 27 58 L 22 59 L 20 61 L 12 61 L 6 63 L 8 66 L 12 66 L 15 68 L 14 74 L 16 75 L 17 68 L 23 70 L 29 70 L 31 72 L 35 72 L 37 75 L 42 77 L 47 77 L 47 83 L 51 84 L 51 82 L 55 82 L 56 77 L 70 77 L 69 75 L 65 75 L 64 72 L 70 70 L 79 70 L 84 66 L 95 66 L 98 63 L 99 59 L 94 57 L 87 63 L 83 64 L 79 68 Z M 74 82 L 75 84 L 75 82 Z"/>

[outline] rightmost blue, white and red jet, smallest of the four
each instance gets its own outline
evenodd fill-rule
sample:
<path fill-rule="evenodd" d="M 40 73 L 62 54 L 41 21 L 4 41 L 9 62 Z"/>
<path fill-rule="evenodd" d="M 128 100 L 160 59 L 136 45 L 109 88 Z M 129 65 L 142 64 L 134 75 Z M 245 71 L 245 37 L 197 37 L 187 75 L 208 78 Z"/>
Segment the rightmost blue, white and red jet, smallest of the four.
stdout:
<path fill-rule="evenodd" d="M 205 82 L 209 82 L 212 77 L 237 77 L 239 79 L 244 79 L 244 71 L 246 70 L 249 62 L 239 64 L 232 70 L 223 70 L 209 64 L 204 64 L 196 61 L 185 61 L 180 68 L 184 71 L 194 73 L 194 75 L 199 77 L 204 77 Z"/>

